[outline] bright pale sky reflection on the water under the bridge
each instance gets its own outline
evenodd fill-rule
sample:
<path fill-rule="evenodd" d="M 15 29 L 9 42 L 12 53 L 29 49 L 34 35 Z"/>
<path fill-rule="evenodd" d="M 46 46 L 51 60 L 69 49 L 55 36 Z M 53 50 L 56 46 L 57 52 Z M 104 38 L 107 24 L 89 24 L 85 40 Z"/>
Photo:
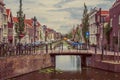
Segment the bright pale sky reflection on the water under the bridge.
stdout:
<path fill-rule="evenodd" d="M 56 56 L 55 68 L 63 71 L 81 71 L 80 56 Z"/>

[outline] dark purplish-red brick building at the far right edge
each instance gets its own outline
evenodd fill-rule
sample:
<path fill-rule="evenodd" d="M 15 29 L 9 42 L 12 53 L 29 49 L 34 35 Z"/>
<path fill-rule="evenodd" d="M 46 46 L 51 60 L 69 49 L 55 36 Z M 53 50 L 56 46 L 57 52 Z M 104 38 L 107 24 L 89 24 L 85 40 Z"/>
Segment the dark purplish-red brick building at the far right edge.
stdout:
<path fill-rule="evenodd" d="M 110 8 L 110 26 L 112 27 L 110 47 L 117 45 L 120 49 L 120 0 Z"/>

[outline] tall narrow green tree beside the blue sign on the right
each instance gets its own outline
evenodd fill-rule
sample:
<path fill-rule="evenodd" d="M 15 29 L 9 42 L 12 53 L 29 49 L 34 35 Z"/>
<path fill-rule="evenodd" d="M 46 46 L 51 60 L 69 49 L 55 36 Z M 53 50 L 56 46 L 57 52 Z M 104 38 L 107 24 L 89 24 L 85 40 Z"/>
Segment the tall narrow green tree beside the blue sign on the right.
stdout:
<path fill-rule="evenodd" d="M 83 33 L 83 38 L 85 40 L 85 42 L 87 42 L 87 38 L 86 38 L 86 32 L 89 31 L 88 29 L 89 26 L 89 15 L 88 15 L 88 9 L 86 4 L 84 3 L 84 12 L 83 12 L 83 19 L 82 19 L 82 33 Z"/>

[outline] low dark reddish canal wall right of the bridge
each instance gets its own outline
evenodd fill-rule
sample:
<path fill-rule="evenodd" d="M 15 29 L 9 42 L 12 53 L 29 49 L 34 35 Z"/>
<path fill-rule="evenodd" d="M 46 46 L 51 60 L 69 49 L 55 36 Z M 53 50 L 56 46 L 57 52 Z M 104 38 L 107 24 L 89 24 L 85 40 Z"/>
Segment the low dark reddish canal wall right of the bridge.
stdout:
<path fill-rule="evenodd" d="M 87 65 L 93 68 L 103 69 L 112 72 L 120 72 L 120 62 L 117 62 L 120 57 L 114 57 L 113 55 L 104 55 L 101 60 L 101 55 L 92 55 L 87 59 Z"/>

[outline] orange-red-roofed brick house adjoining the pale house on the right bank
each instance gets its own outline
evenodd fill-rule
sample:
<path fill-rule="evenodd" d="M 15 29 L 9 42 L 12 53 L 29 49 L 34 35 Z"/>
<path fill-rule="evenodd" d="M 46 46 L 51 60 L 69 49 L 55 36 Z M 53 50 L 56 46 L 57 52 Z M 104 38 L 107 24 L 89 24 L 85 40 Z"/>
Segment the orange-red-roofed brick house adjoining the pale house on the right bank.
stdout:
<path fill-rule="evenodd" d="M 101 49 L 102 46 L 107 45 L 106 35 L 104 34 L 104 29 L 107 24 L 109 24 L 109 11 L 108 10 L 99 10 L 96 18 L 96 23 L 98 24 L 98 45 Z M 105 46 L 104 46 L 105 47 Z"/>

